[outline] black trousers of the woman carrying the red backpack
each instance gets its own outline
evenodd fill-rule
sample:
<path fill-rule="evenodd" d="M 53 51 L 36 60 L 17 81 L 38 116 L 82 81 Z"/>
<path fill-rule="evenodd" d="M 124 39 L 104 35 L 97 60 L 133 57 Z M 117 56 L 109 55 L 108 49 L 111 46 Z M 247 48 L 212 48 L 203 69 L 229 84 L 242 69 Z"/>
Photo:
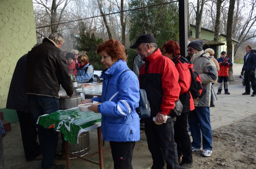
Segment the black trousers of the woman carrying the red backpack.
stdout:
<path fill-rule="evenodd" d="M 174 140 L 177 143 L 178 157 L 182 157 L 182 163 L 192 163 L 192 147 L 191 140 L 188 134 L 188 114 L 182 112 L 179 117 L 176 117 L 174 124 Z"/>

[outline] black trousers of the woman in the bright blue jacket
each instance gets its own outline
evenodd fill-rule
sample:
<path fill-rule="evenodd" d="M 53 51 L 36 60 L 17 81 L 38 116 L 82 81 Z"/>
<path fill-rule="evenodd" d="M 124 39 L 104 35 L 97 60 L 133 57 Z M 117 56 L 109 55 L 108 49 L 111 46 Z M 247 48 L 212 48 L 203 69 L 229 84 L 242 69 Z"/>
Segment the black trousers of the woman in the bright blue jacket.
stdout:
<path fill-rule="evenodd" d="M 132 169 L 132 153 L 135 142 L 109 141 L 114 169 Z"/>

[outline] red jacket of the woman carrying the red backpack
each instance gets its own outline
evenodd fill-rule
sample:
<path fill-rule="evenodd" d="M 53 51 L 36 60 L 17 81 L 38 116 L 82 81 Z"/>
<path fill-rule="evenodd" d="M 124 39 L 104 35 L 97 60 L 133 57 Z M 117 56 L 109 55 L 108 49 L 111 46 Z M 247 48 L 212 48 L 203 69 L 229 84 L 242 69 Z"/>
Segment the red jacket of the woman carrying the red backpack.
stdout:
<path fill-rule="evenodd" d="M 180 85 L 180 102 L 183 104 L 182 112 L 189 112 L 195 109 L 193 98 L 188 91 L 191 84 L 191 74 L 188 69 L 188 61 L 178 55 L 172 59 L 176 65 L 176 69 L 179 73 L 179 85 Z"/>

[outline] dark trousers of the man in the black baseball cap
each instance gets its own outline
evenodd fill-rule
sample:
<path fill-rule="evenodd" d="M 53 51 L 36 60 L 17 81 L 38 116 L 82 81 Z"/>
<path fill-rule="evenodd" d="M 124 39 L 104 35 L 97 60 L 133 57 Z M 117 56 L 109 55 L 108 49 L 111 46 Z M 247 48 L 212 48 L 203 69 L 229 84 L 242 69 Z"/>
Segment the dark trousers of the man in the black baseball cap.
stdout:
<path fill-rule="evenodd" d="M 167 164 L 167 169 L 178 169 L 177 145 L 174 141 L 174 122 L 156 125 L 145 123 L 145 134 L 148 149 L 152 155 L 151 169 L 162 169 Z"/>

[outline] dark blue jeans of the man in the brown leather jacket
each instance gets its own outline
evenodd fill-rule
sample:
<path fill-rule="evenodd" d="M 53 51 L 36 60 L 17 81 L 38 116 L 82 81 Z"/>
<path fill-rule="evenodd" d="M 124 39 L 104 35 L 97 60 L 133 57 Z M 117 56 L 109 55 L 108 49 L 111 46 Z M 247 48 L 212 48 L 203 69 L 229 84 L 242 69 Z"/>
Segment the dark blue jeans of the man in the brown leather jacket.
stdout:
<path fill-rule="evenodd" d="M 39 116 L 43 114 L 51 114 L 59 110 L 59 98 L 28 94 L 28 101 L 30 103 L 30 112 L 32 113 L 35 122 Z M 59 133 L 54 132 L 53 128 L 46 129 L 41 125 L 37 125 L 37 128 L 43 154 L 41 169 L 50 169 L 54 161 Z"/>

